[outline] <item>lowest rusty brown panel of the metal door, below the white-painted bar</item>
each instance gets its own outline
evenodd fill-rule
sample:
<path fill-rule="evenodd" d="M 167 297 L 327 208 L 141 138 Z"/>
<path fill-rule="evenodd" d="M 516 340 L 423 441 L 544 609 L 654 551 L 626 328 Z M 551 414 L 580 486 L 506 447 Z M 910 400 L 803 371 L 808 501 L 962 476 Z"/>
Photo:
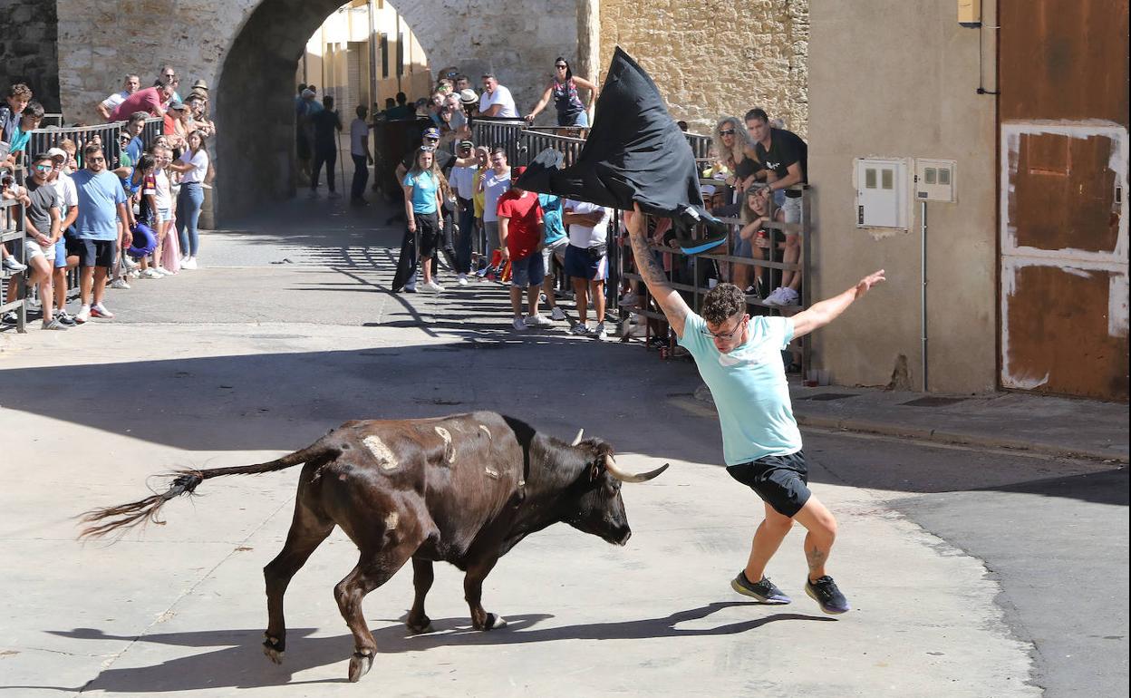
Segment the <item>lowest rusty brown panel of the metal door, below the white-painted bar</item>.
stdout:
<path fill-rule="evenodd" d="M 1128 399 L 1128 275 L 1015 258 L 1002 270 L 1002 385 Z"/>

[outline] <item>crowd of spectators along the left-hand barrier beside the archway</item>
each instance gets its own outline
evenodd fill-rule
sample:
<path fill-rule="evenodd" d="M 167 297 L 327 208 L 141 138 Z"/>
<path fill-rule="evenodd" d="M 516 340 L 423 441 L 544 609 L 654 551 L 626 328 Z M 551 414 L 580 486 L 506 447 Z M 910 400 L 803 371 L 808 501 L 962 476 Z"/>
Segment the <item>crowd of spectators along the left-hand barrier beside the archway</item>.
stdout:
<path fill-rule="evenodd" d="M 180 83 L 171 66 L 145 88 L 138 75 L 127 75 L 119 92 L 94 105 L 112 130 L 79 122 L 48 141 L 32 138 L 44 119 L 32 89 L 8 87 L 0 105 L 0 197 L 23 205 L 25 238 L 23 250 L 0 245 L 9 276 L 5 299 L 17 298 L 21 286 L 33 291 L 43 329 L 112 319 L 107 288 L 199 268 L 197 226 L 204 190 L 215 178 L 207 144 L 216 124 L 207 83 L 196 80 L 184 97 Z M 157 119 L 159 128 L 147 131 Z M 105 133 L 118 143 L 104 143 Z M 32 152 L 36 143 L 52 145 Z M 2 230 L 16 227 L 16 210 L 2 209 Z M 69 276 L 79 291 L 74 313 Z M 3 313 L 0 322 L 15 325 L 16 313 Z"/>

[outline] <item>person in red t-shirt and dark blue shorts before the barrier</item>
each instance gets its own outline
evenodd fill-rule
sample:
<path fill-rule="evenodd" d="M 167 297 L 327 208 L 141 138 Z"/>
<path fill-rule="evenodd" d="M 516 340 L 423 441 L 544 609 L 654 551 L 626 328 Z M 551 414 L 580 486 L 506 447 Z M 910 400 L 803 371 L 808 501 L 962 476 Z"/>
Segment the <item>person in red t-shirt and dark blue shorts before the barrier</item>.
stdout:
<path fill-rule="evenodd" d="M 549 318 L 538 314 L 538 291 L 546 275 L 542 264 L 542 207 L 538 195 L 518 189 L 513 182 L 526 167 L 512 167 L 511 188 L 499 197 L 499 249 L 510 260 L 510 305 L 515 311 L 515 329 L 549 327 Z M 526 291 L 529 314 L 523 317 L 523 291 Z"/>

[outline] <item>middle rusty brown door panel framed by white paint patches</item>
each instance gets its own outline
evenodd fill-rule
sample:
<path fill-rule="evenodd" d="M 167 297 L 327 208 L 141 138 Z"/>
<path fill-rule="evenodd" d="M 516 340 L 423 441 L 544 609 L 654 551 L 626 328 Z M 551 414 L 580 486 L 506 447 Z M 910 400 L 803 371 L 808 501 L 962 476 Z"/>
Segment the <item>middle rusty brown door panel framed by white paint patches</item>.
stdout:
<path fill-rule="evenodd" d="M 1009 149 L 1016 244 L 1115 252 L 1121 212 L 1111 163 L 1119 156 L 1120 143 L 1107 136 L 1019 133 Z"/>

